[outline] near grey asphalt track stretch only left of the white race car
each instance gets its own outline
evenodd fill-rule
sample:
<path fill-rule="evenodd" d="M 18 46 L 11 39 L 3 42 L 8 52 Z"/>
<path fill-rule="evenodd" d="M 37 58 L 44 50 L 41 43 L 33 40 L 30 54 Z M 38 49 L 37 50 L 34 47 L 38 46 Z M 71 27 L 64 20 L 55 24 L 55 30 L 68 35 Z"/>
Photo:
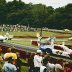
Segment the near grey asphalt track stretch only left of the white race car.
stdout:
<path fill-rule="evenodd" d="M 15 47 L 18 50 L 26 51 L 26 52 L 36 52 L 38 48 L 34 48 L 31 46 L 24 46 L 14 43 L 7 43 L 7 42 L 0 42 L 0 45 L 6 46 L 6 47 Z"/>

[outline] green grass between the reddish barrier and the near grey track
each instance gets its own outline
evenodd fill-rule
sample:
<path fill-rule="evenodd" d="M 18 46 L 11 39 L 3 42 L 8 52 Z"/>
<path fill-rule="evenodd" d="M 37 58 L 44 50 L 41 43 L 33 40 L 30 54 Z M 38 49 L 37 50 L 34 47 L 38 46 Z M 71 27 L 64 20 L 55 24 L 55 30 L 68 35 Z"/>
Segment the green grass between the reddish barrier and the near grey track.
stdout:
<path fill-rule="evenodd" d="M 31 40 L 36 40 L 36 39 L 31 39 L 31 38 L 22 38 L 22 39 L 12 39 L 12 40 L 8 40 L 7 42 L 9 43 L 16 43 L 16 44 L 20 44 L 20 45 L 25 45 L 25 46 L 33 46 L 33 47 L 37 47 L 31 44 Z M 46 42 L 45 39 L 42 39 L 42 42 Z M 72 41 L 68 41 L 65 39 L 56 39 L 56 41 L 54 43 L 57 44 L 62 44 L 62 42 L 65 42 L 66 45 L 72 45 Z"/>

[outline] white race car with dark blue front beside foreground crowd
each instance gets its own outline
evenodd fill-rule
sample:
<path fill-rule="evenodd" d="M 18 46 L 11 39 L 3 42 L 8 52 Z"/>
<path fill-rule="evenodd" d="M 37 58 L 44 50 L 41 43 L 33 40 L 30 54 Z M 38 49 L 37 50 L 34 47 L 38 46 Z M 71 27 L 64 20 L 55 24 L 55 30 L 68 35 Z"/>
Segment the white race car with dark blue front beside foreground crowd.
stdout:
<path fill-rule="evenodd" d="M 39 49 L 50 54 L 72 57 L 72 50 L 65 45 L 42 45 Z"/>

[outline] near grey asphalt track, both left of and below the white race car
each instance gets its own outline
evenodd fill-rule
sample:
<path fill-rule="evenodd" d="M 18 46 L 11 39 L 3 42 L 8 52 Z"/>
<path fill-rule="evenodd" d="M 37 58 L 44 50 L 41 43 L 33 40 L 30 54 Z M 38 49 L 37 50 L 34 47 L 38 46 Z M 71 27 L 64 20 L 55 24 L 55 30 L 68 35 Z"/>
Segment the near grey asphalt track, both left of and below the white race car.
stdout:
<path fill-rule="evenodd" d="M 24 45 L 19 45 L 19 44 L 14 44 L 14 43 L 7 43 L 7 42 L 0 42 L 0 45 L 6 46 L 6 47 L 15 47 L 18 50 L 26 51 L 26 52 L 33 52 L 36 53 L 38 48 L 34 48 L 31 46 L 24 46 Z M 67 61 L 72 61 L 72 58 L 65 57 L 65 56 L 60 56 L 60 55 L 54 55 L 50 54 L 51 57 L 57 58 L 57 59 L 64 59 Z"/>

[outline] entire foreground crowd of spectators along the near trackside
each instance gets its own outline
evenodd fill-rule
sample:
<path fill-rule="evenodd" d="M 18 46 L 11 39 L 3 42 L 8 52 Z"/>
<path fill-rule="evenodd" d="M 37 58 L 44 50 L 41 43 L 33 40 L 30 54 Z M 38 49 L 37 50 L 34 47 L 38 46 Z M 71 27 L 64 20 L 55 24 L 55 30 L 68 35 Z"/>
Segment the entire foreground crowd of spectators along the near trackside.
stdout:
<path fill-rule="evenodd" d="M 25 63 L 20 58 L 20 53 L 8 48 L 7 53 L 2 55 L 0 48 L 0 72 L 25 72 L 21 66 Z M 37 53 L 29 53 L 27 58 L 28 72 L 72 72 L 72 63 L 63 59 L 50 57 L 47 53 L 37 50 Z"/>

